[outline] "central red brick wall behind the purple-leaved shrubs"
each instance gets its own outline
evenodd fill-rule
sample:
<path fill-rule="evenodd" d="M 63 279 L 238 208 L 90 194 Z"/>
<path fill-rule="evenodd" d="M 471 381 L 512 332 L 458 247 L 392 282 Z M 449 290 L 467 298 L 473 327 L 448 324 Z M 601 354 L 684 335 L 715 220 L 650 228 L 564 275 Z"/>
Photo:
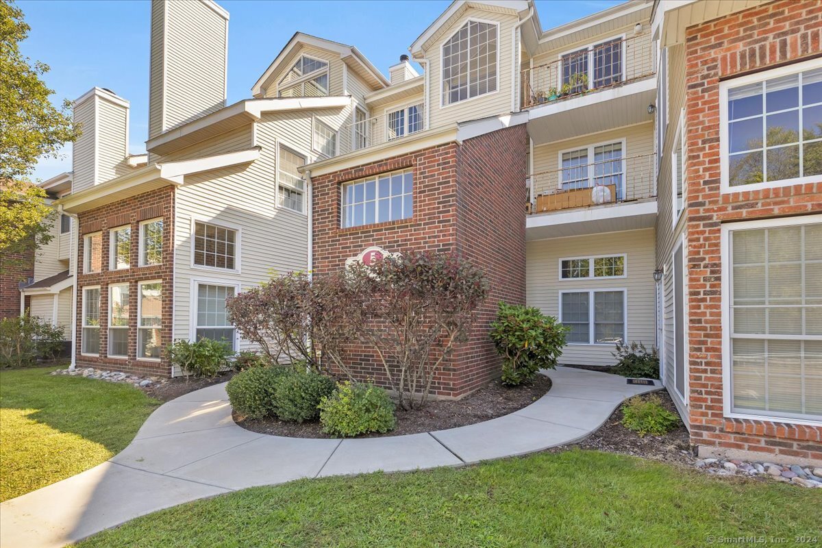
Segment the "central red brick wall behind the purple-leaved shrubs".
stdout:
<path fill-rule="evenodd" d="M 442 367 L 433 394 L 466 394 L 499 374 L 487 325 L 499 299 L 524 302 L 525 138 L 524 126 L 514 127 L 312 180 L 316 274 L 343 268 L 368 246 L 459 251 L 487 269 L 492 296 L 479 311 L 470 342 Z M 412 219 L 340 228 L 342 183 L 404 168 L 413 169 Z M 367 348 L 353 346 L 350 357 L 358 376 L 386 384 L 381 363 Z"/>

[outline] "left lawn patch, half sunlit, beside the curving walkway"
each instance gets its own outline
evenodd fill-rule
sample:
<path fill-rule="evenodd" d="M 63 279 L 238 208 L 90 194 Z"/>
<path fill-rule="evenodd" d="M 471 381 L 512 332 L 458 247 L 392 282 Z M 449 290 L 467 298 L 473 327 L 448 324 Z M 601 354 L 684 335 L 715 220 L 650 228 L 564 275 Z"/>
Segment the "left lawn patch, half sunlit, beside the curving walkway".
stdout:
<path fill-rule="evenodd" d="M 103 463 L 159 405 L 133 386 L 53 370 L 0 371 L 0 500 Z"/>

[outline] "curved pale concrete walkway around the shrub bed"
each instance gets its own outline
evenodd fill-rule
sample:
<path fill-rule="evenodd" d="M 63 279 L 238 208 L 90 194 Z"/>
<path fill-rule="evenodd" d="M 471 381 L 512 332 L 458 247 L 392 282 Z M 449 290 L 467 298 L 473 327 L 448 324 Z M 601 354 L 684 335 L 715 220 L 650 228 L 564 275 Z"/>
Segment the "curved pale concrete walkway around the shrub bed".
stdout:
<path fill-rule="evenodd" d="M 65 546 L 189 500 L 301 477 L 398 472 L 533 453 L 595 431 L 636 394 L 659 389 L 558 367 L 550 392 L 492 421 L 426 434 L 312 440 L 256 434 L 234 424 L 225 385 L 165 403 L 106 463 L 0 504 L 0 546 Z"/>

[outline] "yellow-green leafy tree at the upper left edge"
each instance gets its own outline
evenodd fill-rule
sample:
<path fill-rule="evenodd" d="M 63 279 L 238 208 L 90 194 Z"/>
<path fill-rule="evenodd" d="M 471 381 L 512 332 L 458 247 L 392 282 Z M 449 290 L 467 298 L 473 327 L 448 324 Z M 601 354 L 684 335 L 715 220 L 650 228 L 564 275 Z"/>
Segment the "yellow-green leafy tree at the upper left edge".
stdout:
<path fill-rule="evenodd" d="M 0 178 L 29 175 L 42 156 L 56 157 L 60 146 L 75 140 L 71 104 L 54 108 L 53 94 L 40 76 L 48 65 L 20 52 L 30 26 L 14 3 L 0 0 Z"/>

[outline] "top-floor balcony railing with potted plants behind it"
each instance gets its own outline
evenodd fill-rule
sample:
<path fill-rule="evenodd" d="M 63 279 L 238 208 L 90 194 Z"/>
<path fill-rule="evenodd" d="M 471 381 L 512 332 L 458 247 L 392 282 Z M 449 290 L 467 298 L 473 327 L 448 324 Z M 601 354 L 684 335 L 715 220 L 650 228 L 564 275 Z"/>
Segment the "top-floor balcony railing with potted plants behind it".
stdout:
<path fill-rule="evenodd" d="M 624 85 L 654 71 L 648 33 L 608 40 L 522 71 L 522 108 Z"/>

